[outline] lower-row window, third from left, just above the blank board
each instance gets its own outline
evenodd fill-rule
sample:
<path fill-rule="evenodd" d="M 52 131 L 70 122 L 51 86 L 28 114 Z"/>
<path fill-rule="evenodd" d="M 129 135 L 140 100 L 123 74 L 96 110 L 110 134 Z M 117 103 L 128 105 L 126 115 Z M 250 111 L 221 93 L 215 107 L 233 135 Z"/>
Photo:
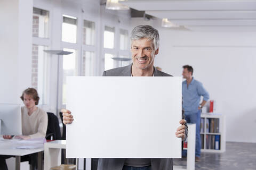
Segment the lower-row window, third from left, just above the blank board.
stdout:
<path fill-rule="evenodd" d="M 93 75 L 94 52 L 83 52 L 83 76 Z"/>

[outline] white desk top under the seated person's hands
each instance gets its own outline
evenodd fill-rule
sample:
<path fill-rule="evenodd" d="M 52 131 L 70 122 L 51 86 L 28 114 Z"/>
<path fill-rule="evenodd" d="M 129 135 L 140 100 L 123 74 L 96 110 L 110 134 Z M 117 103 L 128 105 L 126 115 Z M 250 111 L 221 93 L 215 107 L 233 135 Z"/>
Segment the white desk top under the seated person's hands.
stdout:
<path fill-rule="evenodd" d="M 36 149 L 17 149 L 17 147 L 28 145 L 18 141 L 20 140 L 4 140 L 3 138 L 0 139 L 0 155 L 24 156 L 44 150 L 43 146 Z"/>

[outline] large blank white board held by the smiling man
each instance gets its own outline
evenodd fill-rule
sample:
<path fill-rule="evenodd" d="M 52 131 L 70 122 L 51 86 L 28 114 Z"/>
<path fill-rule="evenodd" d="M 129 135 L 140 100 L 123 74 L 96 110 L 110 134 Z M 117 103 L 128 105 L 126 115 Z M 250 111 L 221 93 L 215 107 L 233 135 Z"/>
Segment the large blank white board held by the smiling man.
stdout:
<path fill-rule="evenodd" d="M 68 77 L 67 158 L 180 158 L 181 77 Z"/>

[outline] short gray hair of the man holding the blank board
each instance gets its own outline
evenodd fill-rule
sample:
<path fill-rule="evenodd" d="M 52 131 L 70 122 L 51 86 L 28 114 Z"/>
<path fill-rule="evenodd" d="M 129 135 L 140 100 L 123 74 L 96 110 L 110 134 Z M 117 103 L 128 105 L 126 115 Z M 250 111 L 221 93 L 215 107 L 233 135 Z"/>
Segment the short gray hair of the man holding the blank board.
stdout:
<path fill-rule="evenodd" d="M 133 40 L 147 38 L 153 40 L 153 47 L 156 50 L 159 47 L 159 34 L 158 31 L 150 25 L 138 25 L 133 28 L 131 33 L 131 43 Z"/>

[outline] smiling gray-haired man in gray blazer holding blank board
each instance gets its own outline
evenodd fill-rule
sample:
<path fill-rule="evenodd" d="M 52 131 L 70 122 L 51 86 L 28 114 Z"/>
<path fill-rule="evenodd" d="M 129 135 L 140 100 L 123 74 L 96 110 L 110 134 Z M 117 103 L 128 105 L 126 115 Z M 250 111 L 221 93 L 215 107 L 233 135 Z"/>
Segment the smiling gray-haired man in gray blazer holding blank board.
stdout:
<path fill-rule="evenodd" d="M 158 54 L 158 31 L 149 25 L 139 25 L 131 33 L 131 53 L 133 63 L 103 72 L 103 76 L 121 77 L 171 77 L 171 75 L 158 71 L 154 67 L 154 58 Z M 138 87 L 143 88 L 143 87 Z M 149 91 L 150 93 L 150 91 Z M 136 98 L 134 98 L 136 99 Z M 145 106 L 147 107 L 147 106 Z M 63 123 L 73 122 L 73 115 L 67 109 L 62 109 Z M 182 112 L 181 124 L 175 132 L 176 137 L 183 140 L 187 138 L 188 128 Z M 170 134 L 171 135 L 171 134 Z M 172 145 L 172 143 L 170 143 Z M 98 170 L 167 170 L 172 169 L 171 158 L 100 158 Z"/>

